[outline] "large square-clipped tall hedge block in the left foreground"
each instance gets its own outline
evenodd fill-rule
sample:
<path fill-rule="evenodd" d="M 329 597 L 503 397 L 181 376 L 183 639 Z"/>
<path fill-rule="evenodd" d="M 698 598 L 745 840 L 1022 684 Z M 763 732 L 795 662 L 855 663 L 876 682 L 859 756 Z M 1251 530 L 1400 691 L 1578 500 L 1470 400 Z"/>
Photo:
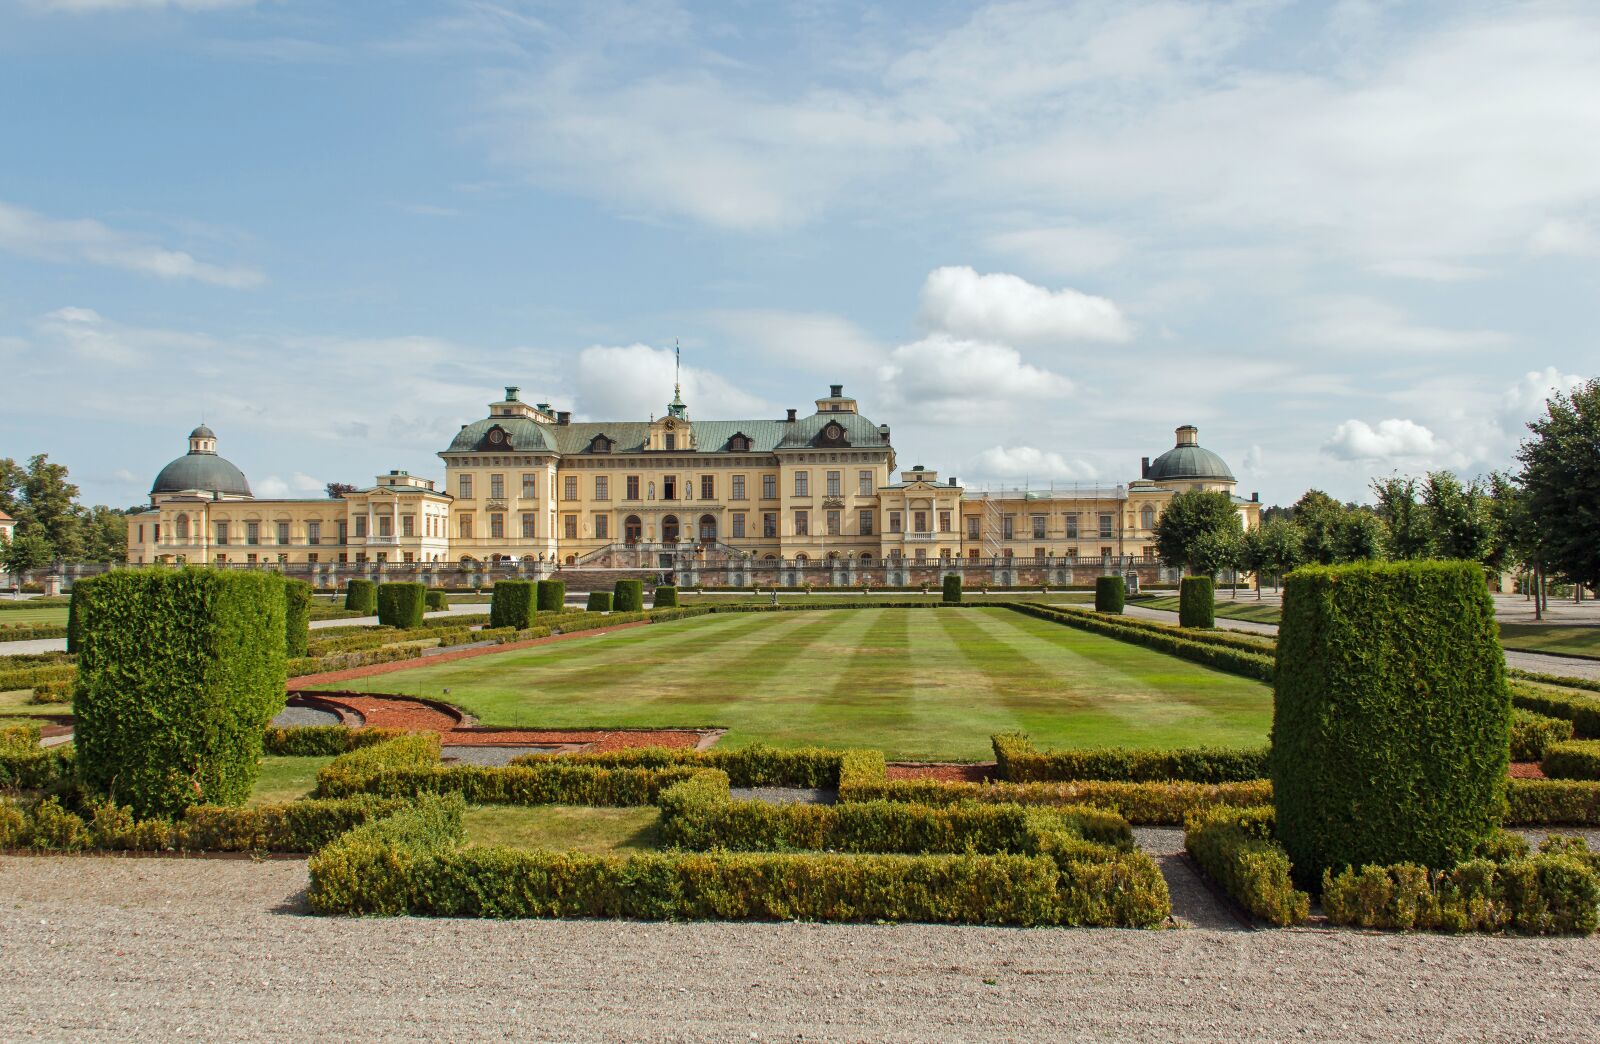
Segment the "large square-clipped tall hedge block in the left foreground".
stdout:
<path fill-rule="evenodd" d="M 283 578 L 213 568 L 80 580 L 78 772 L 139 817 L 240 804 L 283 709 Z"/>

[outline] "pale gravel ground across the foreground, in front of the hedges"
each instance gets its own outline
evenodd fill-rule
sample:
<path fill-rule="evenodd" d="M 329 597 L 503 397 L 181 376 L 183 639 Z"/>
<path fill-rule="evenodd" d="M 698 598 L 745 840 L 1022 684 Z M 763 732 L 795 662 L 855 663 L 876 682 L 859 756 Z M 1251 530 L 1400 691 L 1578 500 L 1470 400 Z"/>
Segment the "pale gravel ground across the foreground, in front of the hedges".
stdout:
<path fill-rule="evenodd" d="M 333 919 L 304 860 L 0 860 L 6 1039 L 1594 1039 L 1600 940 Z"/>

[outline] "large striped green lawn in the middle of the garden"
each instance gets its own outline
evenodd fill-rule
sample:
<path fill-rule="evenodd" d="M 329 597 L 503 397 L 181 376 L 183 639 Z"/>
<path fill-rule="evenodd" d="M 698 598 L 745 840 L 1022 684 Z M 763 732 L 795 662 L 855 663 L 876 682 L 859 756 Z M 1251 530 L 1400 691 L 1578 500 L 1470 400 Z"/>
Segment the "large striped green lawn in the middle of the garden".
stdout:
<path fill-rule="evenodd" d="M 490 725 L 722 725 L 725 746 L 934 761 L 984 761 L 1014 729 L 1040 746 L 1259 746 L 1272 719 L 1261 682 L 1000 608 L 728 613 L 326 687 Z"/>

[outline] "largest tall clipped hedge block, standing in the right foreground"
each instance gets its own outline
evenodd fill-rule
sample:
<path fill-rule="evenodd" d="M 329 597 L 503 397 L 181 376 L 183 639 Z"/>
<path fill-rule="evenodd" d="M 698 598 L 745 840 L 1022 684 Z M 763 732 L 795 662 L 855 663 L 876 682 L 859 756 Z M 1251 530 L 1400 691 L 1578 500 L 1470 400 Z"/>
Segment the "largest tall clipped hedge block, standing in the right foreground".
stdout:
<path fill-rule="evenodd" d="M 1310 567 L 1283 588 L 1277 834 L 1296 881 L 1467 858 L 1506 807 L 1510 693 L 1483 568 Z"/>

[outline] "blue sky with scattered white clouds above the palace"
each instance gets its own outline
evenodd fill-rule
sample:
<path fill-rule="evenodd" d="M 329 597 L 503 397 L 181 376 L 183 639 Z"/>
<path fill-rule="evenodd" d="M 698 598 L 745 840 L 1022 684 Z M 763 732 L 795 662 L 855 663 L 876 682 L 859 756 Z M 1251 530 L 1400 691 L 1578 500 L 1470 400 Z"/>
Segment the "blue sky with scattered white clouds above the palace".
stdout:
<path fill-rule="evenodd" d="M 1507 468 L 1597 376 L 1600 5 L 0 0 L 0 456 L 259 496 L 501 389 L 902 468 Z"/>

